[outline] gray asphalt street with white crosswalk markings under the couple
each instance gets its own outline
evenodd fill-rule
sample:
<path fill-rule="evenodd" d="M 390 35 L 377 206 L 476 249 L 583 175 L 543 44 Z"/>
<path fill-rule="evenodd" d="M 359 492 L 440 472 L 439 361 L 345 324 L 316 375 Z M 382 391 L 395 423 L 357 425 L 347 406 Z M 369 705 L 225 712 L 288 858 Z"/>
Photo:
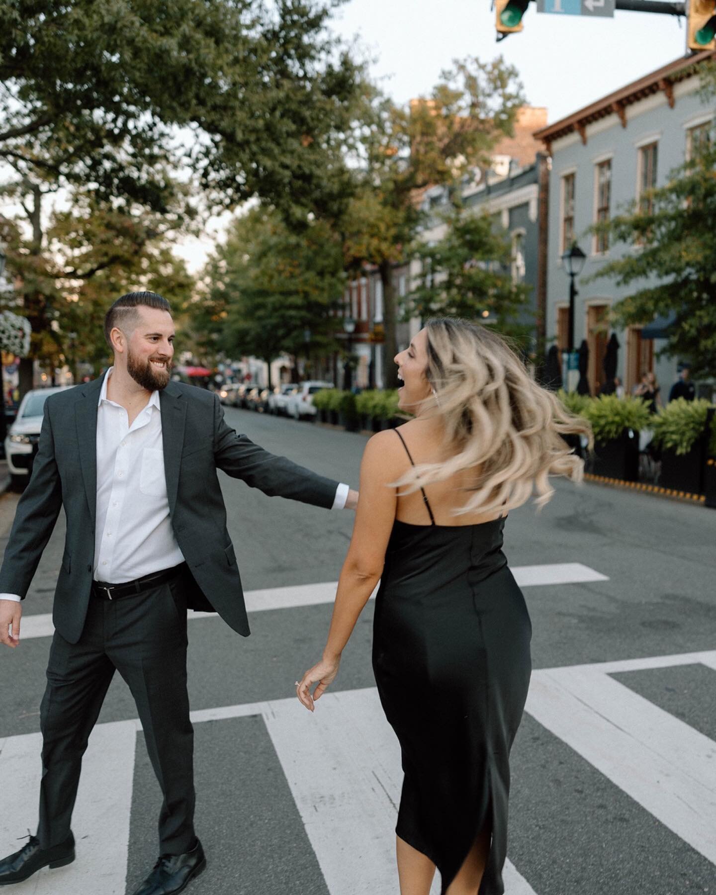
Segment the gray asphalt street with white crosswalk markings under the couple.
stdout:
<path fill-rule="evenodd" d="M 357 486 L 365 438 L 228 409 L 263 447 Z M 192 895 L 396 895 L 399 754 L 371 673 L 372 603 L 310 715 L 294 680 L 320 652 L 352 514 L 222 476 L 252 635 L 190 622 L 197 830 Z M 0 500 L 0 547 L 16 497 Z M 61 519 L 0 651 L 0 854 L 37 821 L 38 706 Z M 507 895 L 716 893 L 716 513 L 557 483 L 506 525 L 533 619 L 533 683 L 512 754 Z M 314 586 L 315 585 L 315 586 Z M 13 888 L 131 893 L 157 857 L 160 797 L 120 679 L 85 758 L 78 859 Z"/>

